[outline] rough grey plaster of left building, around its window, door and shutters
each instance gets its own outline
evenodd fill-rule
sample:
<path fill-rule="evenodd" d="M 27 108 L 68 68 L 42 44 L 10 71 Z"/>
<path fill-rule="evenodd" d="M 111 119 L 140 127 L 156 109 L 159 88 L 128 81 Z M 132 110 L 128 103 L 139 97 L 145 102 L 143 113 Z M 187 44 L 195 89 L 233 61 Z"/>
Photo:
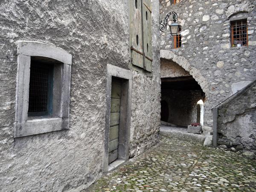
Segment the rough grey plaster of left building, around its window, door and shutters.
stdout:
<path fill-rule="evenodd" d="M 157 142 L 160 121 L 158 1 L 152 10 L 154 75 L 133 78 L 131 148 L 140 150 Z M 80 191 L 102 174 L 106 66 L 128 69 L 128 1 L 4 0 L 0 20 L 0 191 Z M 73 56 L 69 130 L 14 139 L 16 41 Z"/>

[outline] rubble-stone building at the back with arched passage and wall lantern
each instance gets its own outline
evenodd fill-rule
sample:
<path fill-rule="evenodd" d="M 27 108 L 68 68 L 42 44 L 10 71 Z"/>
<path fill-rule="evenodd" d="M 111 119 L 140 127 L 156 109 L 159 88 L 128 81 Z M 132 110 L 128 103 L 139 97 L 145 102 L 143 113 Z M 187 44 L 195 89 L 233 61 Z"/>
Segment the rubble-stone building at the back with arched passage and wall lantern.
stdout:
<path fill-rule="evenodd" d="M 161 107 L 164 110 L 161 119 L 182 126 L 198 121 L 203 123 L 205 132 L 210 131 L 213 127 L 212 108 L 256 79 L 256 1 L 159 2 L 160 20 L 168 12 L 174 11 L 181 26 L 178 36 L 172 37 L 169 29 L 160 32 L 161 103 L 165 104 Z M 169 19 L 171 21 L 172 17 Z M 247 98 L 254 99 L 253 93 L 251 91 Z M 204 102 L 203 110 L 197 104 L 201 99 Z M 240 102 L 248 101 L 250 105 L 239 105 L 247 107 L 232 113 L 242 116 L 247 114 L 244 111 L 254 111 L 247 114 L 247 118 L 251 120 L 244 124 L 250 128 L 233 125 L 232 128 L 227 128 L 228 125 L 224 128 L 221 126 L 223 122 L 219 122 L 219 145 L 230 147 L 232 140 L 237 137 L 239 142 L 236 142 L 235 147 L 239 145 L 239 150 L 256 150 L 256 145 L 252 144 L 255 143 L 252 135 L 255 135 L 256 130 L 253 99 L 240 99 Z M 199 120 L 201 117 L 198 118 L 202 115 L 204 121 Z M 227 123 L 225 120 L 224 122 Z M 241 134 L 243 130 L 254 131 L 251 134 Z M 231 134 L 232 139 L 229 137 Z M 244 138 L 244 145 L 241 145 L 241 135 L 247 137 Z"/>

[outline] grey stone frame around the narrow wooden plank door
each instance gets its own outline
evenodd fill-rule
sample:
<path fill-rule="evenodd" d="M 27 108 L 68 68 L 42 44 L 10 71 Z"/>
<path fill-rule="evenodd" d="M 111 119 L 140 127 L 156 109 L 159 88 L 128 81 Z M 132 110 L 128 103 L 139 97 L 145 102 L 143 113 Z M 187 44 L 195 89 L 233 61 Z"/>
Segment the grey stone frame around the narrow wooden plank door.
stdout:
<path fill-rule="evenodd" d="M 109 125 L 110 125 L 110 107 L 111 107 L 111 83 L 112 77 L 122 80 L 122 95 L 120 102 L 119 117 L 119 141 L 118 158 L 113 166 L 108 165 L 108 144 L 109 144 Z M 120 163 L 129 159 L 130 145 L 130 124 L 131 124 L 131 90 L 132 90 L 132 72 L 114 65 L 107 65 L 107 83 L 105 100 L 105 134 L 104 134 L 104 157 L 103 172 L 109 172 Z M 115 166 L 116 165 L 116 166 Z"/>

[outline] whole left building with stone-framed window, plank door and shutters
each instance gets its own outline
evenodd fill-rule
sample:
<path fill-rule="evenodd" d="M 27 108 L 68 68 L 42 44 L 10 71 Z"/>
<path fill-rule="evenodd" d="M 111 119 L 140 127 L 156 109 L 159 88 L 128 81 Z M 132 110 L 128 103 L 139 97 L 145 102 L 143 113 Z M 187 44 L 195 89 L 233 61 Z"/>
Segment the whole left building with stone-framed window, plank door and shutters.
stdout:
<path fill-rule="evenodd" d="M 0 20 L 1 192 L 81 191 L 158 142 L 157 0 L 3 0 Z"/>

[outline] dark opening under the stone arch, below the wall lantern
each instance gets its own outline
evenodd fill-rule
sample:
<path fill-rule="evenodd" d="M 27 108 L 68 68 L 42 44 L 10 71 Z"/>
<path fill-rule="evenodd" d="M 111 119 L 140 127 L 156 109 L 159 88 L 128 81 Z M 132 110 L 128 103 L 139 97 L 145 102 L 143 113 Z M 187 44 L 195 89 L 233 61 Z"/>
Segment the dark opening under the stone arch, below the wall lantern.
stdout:
<path fill-rule="evenodd" d="M 200 99 L 205 100 L 205 94 L 198 82 L 192 76 L 181 76 L 161 78 L 161 83 L 161 120 L 177 126 L 197 122 L 197 102 Z M 169 109 L 168 117 L 166 109 Z"/>

